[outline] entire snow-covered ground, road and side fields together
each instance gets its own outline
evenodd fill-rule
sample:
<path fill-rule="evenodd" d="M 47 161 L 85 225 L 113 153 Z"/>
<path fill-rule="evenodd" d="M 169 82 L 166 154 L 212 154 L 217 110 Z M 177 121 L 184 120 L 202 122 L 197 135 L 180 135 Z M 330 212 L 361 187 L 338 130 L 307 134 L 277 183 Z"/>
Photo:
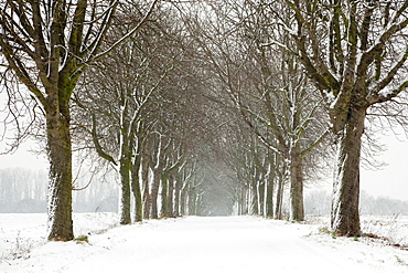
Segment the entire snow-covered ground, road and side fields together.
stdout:
<path fill-rule="evenodd" d="M 115 227 L 115 213 L 74 214 L 86 242 L 44 242 L 45 214 L 0 214 L 0 272 L 408 272 L 407 218 L 363 218 L 366 233 L 333 238 L 328 218 L 150 220 Z M 399 244 L 400 246 L 393 246 Z"/>

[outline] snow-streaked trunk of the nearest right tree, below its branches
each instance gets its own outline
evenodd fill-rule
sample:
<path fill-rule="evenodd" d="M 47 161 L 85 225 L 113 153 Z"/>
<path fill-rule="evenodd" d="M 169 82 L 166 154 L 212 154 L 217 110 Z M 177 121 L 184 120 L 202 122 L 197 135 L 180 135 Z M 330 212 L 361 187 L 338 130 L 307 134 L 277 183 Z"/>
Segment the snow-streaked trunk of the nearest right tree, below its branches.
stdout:
<path fill-rule="evenodd" d="M 359 157 L 365 108 L 351 108 L 337 137 L 331 225 L 339 235 L 359 235 Z"/>

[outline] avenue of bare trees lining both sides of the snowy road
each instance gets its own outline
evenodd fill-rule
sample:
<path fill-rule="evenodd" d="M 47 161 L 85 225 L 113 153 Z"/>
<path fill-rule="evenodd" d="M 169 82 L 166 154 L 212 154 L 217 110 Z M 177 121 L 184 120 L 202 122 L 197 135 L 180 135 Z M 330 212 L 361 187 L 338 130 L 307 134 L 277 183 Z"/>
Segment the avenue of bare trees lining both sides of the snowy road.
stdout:
<path fill-rule="evenodd" d="M 1 3 L 4 124 L 17 120 L 17 143 L 35 132 L 46 144 L 49 239 L 73 239 L 73 153 L 78 168 L 92 161 L 95 171 L 116 171 L 128 224 L 131 211 L 140 221 L 230 213 L 230 204 L 280 219 L 286 185 L 290 219 L 302 221 L 304 182 L 336 151 L 332 229 L 358 235 L 363 135 L 371 139 L 378 116 L 407 120 L 407 8 Z M 18 122 L 20 105 L 34 108 L 29 127 Z"/>

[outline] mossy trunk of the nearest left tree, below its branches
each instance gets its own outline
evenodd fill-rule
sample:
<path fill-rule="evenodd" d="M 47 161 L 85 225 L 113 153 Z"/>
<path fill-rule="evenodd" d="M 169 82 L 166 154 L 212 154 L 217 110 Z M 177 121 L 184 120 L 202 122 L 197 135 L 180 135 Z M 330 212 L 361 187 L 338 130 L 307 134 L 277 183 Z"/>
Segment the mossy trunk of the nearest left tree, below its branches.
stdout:
<path fill-rule="evenodd" d="M 50 101 L 52 97 L 50 97 Z M 50 160 L 49 231 L 50 241 L 74 239 L 72 220 L 72 145 L 68 107 L 58 111 L 57 98 L 46 113 L 47 154 Z"/>

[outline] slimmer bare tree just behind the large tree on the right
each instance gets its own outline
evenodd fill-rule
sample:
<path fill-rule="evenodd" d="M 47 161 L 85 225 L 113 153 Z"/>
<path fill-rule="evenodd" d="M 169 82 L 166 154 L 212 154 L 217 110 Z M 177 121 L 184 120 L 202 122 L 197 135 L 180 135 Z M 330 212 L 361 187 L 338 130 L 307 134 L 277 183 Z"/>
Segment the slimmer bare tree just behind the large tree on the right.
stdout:
<path fill-rule="evenodd" d="M 287 164 L 290 181 L 290 218 L 302 221 L 303 168 L 315 168 L 304 158 L 329 135 L 320 97 L 297 60 L 271 39 L 290 46 L 291 41 L 273 20 L 267 1 L 214 1 L 207 14 L 191 15 L 191 32 L 217 77 L 219 88 L 269 150 Z M 256 145 L 256 144 L 253 144 Z M 259 165 L 258 165 L 259 166 Z"/>

